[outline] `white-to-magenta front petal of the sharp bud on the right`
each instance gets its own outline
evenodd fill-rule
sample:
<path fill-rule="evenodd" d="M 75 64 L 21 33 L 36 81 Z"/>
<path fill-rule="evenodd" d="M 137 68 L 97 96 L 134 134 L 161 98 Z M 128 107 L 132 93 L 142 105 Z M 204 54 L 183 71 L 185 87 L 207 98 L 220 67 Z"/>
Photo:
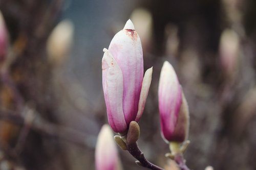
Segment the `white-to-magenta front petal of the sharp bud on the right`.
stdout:
<path fill-rule="evenodd" d="M 181 106 L 181 87 L 173 66 L 167 61 L 160 74 L 158 99 L 162 134 L 169 141 L 172 139 Z"/>

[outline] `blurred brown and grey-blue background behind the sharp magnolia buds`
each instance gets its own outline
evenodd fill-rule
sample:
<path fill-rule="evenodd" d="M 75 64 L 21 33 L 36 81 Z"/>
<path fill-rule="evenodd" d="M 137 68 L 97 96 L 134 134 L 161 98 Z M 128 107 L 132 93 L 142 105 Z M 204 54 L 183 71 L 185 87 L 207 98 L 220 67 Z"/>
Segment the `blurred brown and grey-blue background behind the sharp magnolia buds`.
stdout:
<path fill-rule="evenodd" d="M 256 1 L 0 0 L 0 169 L 94 169 L 102 49 L 131 18 L 153 80 L 139 147 L 164 167 L 165 60 L 190 110 L 191 169 L 256 169 Z M 119 150 L 123 169 L 143 169 Z"/>

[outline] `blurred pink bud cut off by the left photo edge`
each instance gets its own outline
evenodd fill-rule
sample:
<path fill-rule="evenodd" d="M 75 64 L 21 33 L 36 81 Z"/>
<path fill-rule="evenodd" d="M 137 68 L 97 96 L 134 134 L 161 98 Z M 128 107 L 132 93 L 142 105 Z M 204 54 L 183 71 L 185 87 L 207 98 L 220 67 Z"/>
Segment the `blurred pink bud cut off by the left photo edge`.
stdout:
<path fill-rule="evenodd" d="M 0 67 L 3 64 L 8 51 L 8 34 L 4 17 L 0 11 Z"/>

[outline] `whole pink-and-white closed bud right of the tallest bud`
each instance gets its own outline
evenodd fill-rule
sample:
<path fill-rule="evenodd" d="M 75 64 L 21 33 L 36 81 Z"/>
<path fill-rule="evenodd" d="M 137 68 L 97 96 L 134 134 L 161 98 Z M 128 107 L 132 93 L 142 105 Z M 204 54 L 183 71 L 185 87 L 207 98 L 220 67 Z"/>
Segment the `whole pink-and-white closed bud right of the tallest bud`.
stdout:
<path fill-rule="evenodd" d="M 160 74 L 158 100 L 164 139 L 183 142 L 188 135 L 188 106 L 175 70 L 167 61 Z"/>

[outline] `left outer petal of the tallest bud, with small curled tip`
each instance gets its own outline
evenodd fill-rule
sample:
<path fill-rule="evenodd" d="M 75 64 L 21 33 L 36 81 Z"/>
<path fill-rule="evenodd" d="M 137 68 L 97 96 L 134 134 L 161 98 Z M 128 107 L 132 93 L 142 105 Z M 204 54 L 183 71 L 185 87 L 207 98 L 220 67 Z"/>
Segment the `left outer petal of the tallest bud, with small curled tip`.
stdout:
<path fill-rule="evenodd" d="M 125 123 L 123 102 L 123 76 L 120 67 L 111 53 L 104 48 L 102 58 L 102 85 L 109 124 L 115 132 L 124 132 Z"/>

